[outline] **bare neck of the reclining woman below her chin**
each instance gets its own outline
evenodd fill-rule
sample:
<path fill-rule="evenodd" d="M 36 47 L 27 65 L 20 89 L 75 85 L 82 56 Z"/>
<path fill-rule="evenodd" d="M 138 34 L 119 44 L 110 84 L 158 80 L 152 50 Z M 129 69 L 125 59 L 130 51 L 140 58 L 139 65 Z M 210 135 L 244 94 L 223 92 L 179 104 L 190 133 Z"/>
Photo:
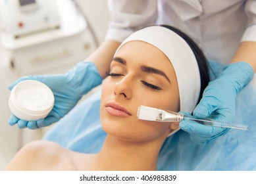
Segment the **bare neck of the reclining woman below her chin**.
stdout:
<path fill-rule="evenodd" d="M 107 135 L 101 151 L 95 155 L 93 170 L 157 170 L 163 141 L 128 142 Z"/>

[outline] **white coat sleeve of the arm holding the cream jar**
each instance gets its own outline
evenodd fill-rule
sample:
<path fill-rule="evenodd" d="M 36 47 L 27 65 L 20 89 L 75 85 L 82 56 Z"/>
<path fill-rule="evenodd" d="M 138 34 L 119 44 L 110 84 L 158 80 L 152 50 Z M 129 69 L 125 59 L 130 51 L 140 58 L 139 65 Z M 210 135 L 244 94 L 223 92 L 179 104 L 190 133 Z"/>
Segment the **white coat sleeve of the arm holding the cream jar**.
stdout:
<path fill-rule="evenodd" d="M 111 16 L 105 39 L 124 41 L 128 35 L 157 21 L 156 0 L 109 0 Z"/>

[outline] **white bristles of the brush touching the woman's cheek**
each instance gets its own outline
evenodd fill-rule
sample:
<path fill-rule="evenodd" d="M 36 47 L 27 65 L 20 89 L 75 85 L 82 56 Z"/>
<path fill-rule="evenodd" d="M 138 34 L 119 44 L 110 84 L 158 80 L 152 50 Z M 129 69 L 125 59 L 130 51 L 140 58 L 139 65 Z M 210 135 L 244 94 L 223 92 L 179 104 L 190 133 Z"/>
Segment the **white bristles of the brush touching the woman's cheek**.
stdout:
<path fill-rule="evenodd" d="M 158 109 L 149 106 L 139 106 L 137 116 L 139 120 L 155 121 L 159 115 Z"/>

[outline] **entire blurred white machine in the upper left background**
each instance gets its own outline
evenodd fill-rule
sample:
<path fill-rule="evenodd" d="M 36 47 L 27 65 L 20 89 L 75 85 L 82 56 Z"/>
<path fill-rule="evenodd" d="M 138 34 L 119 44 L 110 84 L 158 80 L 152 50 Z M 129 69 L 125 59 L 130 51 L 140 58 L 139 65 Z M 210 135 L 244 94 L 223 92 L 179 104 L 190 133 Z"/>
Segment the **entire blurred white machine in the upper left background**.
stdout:
<path fill-rule="evenodd" d="M 97 46 L 75 1 L 1 0 L 5 67 L 18 78 L 63 73 Z"/>

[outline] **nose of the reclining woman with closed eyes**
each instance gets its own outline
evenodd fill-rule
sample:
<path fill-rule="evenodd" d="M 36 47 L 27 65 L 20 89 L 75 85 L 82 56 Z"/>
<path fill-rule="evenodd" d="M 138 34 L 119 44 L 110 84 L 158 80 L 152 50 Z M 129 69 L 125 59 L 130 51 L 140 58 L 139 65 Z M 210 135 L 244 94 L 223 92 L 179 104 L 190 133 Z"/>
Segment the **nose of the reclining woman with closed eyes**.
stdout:
<path fill-rule="evenodd" d="M 132 81 L 126 76 L 115 84 L 114 93 L 118 97 L 125 99 L 132 98 Z"/>

